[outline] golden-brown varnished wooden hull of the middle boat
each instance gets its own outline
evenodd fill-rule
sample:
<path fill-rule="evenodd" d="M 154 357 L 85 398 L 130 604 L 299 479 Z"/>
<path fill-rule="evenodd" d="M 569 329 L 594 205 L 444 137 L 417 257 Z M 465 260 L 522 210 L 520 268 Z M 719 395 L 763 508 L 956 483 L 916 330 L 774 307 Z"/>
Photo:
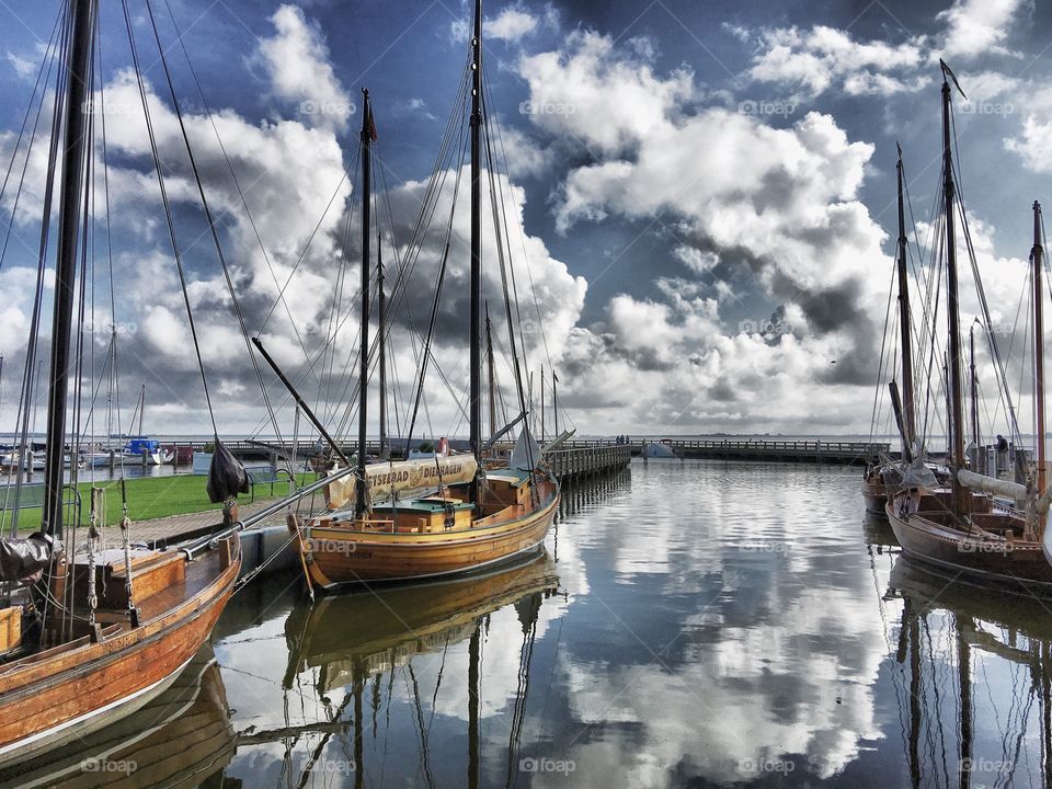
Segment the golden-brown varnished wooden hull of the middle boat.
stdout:
<path fill-rule="evenodd" d="M 559 507 L 558 488 L 541 506 L 504 522 L 431 534 L 365 533 L 339 525 L 304 529 L 300 550 L 322 588 L 369 581 L 451 575 L 536 550 Z"/>

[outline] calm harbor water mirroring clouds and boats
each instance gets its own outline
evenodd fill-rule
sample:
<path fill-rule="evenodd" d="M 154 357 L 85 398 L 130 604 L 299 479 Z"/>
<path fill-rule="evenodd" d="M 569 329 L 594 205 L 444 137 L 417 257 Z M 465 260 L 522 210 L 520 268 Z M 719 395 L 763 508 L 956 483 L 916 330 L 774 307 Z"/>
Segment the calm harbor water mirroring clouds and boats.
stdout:
<path fill-rule="evenodd" d="M 1052 613 L 906 562 L 858 478 L 637 460 L 513 568 L 252 584 L 140 728 L 179 786 L 1052 786 Z"/>

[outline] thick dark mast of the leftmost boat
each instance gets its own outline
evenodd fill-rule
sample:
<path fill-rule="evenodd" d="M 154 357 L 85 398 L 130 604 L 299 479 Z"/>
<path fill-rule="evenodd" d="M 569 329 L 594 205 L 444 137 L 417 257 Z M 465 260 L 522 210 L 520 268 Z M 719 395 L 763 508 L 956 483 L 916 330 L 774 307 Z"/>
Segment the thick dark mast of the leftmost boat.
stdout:
<path fill-rule="evenodd" d="M 62 442 L 66 436 L 66 396 L 69 386 L 69 338 L 77 275 L 77 236 L 83 210 L 84 156 L 88 150 L 88 73 L 94 34 L 94 0 L 69 0 L 72 34 L 66 87 L 66 134 L 62 145 L 62 186 L 58 216 L 58 258 L 55 264 L 55 313 L 52 318 L 52 380 L 47 388 L 47 450 L 44 469 L 44 530 L 62 536 Z"/>

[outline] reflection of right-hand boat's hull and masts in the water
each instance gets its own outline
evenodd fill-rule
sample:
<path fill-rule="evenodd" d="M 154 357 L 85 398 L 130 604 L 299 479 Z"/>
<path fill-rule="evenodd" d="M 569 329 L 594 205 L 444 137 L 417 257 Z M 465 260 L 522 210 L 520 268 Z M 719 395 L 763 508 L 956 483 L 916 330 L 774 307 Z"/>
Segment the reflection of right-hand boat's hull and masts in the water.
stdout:
<path fill-rule="evenodd" d="M 1052 613 L 900 556 L 895 643 L 910 785 L 1052 787 Z"/>

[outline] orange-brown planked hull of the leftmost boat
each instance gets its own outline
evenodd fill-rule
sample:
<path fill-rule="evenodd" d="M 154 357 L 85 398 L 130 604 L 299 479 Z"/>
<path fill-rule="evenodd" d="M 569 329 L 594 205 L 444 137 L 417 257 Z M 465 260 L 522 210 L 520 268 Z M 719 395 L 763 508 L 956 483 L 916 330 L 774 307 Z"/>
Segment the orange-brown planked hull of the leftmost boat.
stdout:
<path fill-rule="evenodd" d="M 163 691 L 233 592 L 241 551 L 237 535 L 229 539 L 229 552 L 187 561 L 185 580 L 144 601 L 139 627 L 0 666 L 0 764 L 83 736 Z"/>

